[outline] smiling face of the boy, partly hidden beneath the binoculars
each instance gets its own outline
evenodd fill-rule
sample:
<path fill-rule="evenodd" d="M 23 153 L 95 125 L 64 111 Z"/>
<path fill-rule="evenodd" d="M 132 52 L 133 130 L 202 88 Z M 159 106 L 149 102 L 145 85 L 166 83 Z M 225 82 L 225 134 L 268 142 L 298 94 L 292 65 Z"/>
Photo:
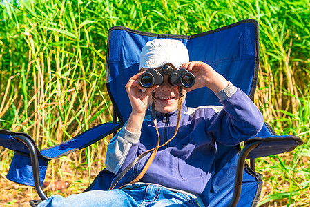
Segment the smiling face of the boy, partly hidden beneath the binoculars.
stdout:
<path fill-rule="evenodd" d="M 182 102 L 185 99 L 186 91 L 183 90 Z M 179 100 L 179 91 L 177 86 L 172 86 L 169 83 L 169 76 L 164 75 L 164 81 L 159 85 L 158 88 L 155 88 L 155 109 L 158 112 L 168 113 L 173 110 L 177 110 L 177 103 Z M 152 106 L 152 96 L 148 99 L 148 104 Z"/>

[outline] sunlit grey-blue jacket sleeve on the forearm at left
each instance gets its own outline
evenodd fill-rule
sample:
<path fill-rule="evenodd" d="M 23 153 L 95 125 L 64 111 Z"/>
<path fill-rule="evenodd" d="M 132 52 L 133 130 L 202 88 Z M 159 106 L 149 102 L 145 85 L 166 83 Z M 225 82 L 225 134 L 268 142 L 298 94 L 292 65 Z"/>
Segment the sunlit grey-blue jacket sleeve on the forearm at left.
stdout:
<path fill-rule="evenodd" d="M 125 126 L 111 139 L 106 150 L 106 169 L 117 174 L 126 163 L 137 157 L 137 147 L 141 132 L 133 133 Z"/>

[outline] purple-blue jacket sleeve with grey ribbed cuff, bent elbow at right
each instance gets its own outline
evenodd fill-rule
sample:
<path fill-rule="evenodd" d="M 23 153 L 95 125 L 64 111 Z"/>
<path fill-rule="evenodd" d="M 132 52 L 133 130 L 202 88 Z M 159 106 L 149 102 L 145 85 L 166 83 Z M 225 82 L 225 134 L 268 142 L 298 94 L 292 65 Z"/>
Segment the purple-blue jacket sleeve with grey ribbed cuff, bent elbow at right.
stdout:
<path fill-rule="evenodd" d="M 211 117 L 207 132 L 216 141 L 236 145 L 260 132 L 264 124 L 262 113 L 240 88 L 230 83 L 215 95 L 223 109 Z"/>

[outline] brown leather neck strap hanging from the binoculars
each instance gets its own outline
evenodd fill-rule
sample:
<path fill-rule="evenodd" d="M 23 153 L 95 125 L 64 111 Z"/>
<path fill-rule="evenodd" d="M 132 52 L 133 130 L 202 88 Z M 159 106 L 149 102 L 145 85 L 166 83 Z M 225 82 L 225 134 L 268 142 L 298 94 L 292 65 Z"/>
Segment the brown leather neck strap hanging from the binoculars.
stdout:
<path fill-rule="evenodd" d="M 159 148 L 161 148 L 162 146 L 165 146 L 166 144 L 168 144 L 168 142 L 170 142 L 175 137 L 175 135 L 177 135 L 177 130 L 179 129 L 179 126 L 180 126 L 180 118 L 181 118 L 181 112 L 182 112 L 182 97 L 184 97 L 183 92 L 182 92 L 182 86 L 177 86 L 177 89 L 179 91 L 179 99 L 178 99 L 178 103 L 177 103 L 177 125 L 175 126 L 175 134 L 173 135 L 173 137 L 171 137 L 171 139 L 169 139 L 164 144 L 159 146 L 160 138 L 159 138 L 159 132 L 158 132 L 158 126 L 157 126 L 157 118 L 156 118 L 156 110 L 155 110 L 155 98 L 154 98 L 154 91 L 153 91 L 152 92 L 152 99 L 153 99 L 153 101 L 152 101 L 152 117 L 153 117 L 153 122 L 154 122 L 155 129 L 156 129 L 156 132 L 157 132 L 157 138 L 158 138 L 157 139 L 157 144 L 156 144 L 155 148 L 153 148 L 151 150 L 147 150 L 146 152 L 143 152 L 141 155 L 139 155 L 119 175 L 117 175 L 117 177 L 114 179 L 113 183 L 111 184 L 109 190 L 113 190 L 113 188 L 116 186 L 118 181 L 120 179 L 122 179 L 122 177 L 124 177 L 126 172 L 128 172 L 130 170 L 130 168 L 133 168 L 133 166 L 135 166 L 135 164 L 137 164 L 139 162 L 139 160 L 142 159 L 142 157 L 147 155 L 148 152 L 152 152 L 153 151 L 151 156 L 148 158 L 148 161 L 144 165 L 142 171 L 139 173 L 139 175 L 137 177 L 135 177 L 135 179 L 133 179 L 133 181 L 130 181 L 130 183 L 128 183 L 128 184 L 135 184 L 140 179 L 142 179 L 142 177 L 144 176 L 144 174 L 146 173 L 148 168 L 151 166 L 151 163 L 153 162 L 153 160 L 155 158 L 157 150 Z M 121 186 L 120 188 L 124 188 L 128 184 L 125 184 L 124 186 Z"/>

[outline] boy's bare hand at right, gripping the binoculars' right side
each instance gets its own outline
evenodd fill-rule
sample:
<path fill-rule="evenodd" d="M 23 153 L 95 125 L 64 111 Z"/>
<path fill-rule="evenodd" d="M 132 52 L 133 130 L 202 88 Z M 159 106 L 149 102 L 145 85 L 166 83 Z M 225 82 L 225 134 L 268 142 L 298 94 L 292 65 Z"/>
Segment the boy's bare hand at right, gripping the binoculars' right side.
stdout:
<path fill-rule="evenodd" d="M 204 62 L 188 62 L 184 63 L 180 68 L 185 68 L 195 75 L 195 84 L 191 88 L 184 88 L 187 91 L 206 86 L 213 92 L 219 92 L 229 85 L 229 82 L 222 75 L 213 70 L 211 66 Z"/>

